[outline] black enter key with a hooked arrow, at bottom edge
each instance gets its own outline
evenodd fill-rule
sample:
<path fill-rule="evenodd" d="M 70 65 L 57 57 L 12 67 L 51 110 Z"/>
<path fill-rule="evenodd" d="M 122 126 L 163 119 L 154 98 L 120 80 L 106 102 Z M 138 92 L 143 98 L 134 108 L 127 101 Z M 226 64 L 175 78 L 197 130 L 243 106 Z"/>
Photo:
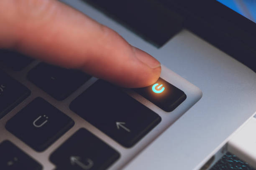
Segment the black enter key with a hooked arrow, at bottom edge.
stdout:
<path fill-rule="evenodd" d="M 120 154 L 85 129 L 79 129 L 50 157 L 60 170 L 105 170 Z"/>

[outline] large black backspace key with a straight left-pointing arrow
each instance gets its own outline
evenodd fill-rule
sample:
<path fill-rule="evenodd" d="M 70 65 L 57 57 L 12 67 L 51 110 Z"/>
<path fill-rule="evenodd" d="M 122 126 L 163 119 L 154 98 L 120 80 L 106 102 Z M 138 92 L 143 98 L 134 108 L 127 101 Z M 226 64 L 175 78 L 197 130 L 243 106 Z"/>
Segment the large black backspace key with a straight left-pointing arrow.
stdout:
<path fill-rule="evenodd" d="M 98 80 L 70 109 L 125 147 L 132 147 L 161 117 L 118 87 Z"/>

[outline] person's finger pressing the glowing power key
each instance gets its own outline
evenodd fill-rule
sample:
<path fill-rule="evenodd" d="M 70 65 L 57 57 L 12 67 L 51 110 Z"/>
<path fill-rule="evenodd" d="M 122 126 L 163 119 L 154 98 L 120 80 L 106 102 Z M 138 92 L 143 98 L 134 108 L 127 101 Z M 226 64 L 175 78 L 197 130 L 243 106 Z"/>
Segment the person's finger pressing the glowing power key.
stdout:
<path fill-rule="evenodd" d="M 0 0 L 0 49 L 123 87 L 153 84 L 160 62 L 131 46 L 117 32 L 57 0 Z"/>

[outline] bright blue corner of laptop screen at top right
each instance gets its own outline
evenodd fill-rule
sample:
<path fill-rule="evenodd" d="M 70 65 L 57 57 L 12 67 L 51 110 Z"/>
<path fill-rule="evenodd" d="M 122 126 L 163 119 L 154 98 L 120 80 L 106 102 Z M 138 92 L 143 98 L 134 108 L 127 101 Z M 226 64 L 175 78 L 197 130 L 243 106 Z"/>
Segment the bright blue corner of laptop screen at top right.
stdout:
<path fill-rule="evenodd" d="M 256 23 L 255 0 L 218 0 L 222 4 Z"/>

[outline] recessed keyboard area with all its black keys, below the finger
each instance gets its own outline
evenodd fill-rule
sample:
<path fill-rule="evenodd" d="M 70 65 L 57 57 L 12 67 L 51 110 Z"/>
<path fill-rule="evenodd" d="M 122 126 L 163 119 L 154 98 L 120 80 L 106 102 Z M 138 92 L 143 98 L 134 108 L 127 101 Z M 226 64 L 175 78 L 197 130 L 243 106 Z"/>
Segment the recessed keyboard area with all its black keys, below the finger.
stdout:
<path fill-rule="evenodd" d="M 0 169 L 121 168 L 200 99 L 181 77 L 122 89 L 16 52 L 0 60 Z"/>

